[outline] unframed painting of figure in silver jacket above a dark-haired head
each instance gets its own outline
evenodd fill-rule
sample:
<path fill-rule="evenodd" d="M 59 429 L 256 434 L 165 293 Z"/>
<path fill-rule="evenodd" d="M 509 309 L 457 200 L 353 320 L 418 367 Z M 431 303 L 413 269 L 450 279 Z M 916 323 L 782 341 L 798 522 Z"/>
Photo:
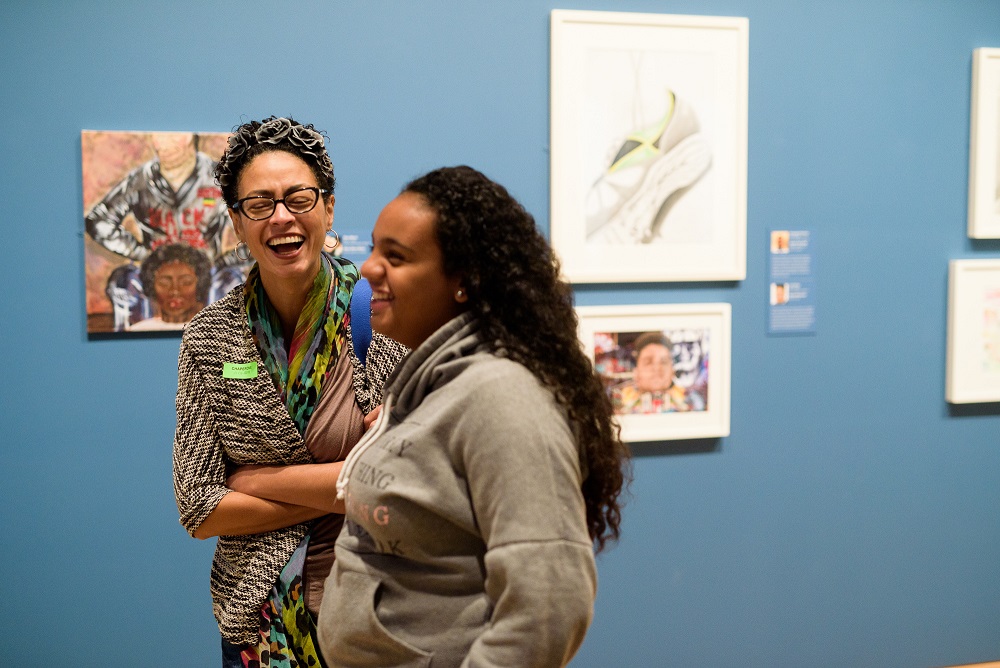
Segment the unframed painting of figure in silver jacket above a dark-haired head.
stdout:
<path fill-rule="evenodd" d="M 243 281 L 214 174 L 228 137 L 81 133 L 88 334 L 179 331 Z"/>

